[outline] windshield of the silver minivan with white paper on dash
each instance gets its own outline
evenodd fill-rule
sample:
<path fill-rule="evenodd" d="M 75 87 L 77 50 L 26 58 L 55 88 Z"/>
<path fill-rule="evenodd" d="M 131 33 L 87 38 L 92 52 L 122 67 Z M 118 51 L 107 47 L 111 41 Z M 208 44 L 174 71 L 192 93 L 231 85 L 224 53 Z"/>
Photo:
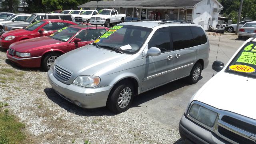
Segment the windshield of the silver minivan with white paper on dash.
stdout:
<path fill-rule="evenodd" d="M 105 32 L 94 45 L 99 48 L 115 49 L 126 54 L 135 54 L 140 50 L 151 28 L 141 26 L 116 25 Z"/>

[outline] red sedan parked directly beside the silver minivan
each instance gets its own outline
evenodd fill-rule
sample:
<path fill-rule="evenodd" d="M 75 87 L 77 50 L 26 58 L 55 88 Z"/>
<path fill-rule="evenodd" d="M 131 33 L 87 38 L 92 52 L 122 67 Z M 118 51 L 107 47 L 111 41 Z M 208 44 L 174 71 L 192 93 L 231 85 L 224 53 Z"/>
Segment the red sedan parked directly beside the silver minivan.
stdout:
<path fill-rule="evenodd" d="M 108 28 L 88 25 L 64 27 L 50 36 L 22 40 L 10 45 L 7 58 L 22 67 L 51 68 L 58 56 L 94 42 Z"/>

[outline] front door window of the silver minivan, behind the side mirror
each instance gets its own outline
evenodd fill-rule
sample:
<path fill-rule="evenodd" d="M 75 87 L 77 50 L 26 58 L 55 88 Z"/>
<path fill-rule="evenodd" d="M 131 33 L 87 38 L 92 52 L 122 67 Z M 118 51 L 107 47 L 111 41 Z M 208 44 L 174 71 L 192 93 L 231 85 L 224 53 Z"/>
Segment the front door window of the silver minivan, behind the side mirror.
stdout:
<path fill-rule="evenodd" d="M 161 52 L 168 52 L 172 50 L 170 44 L 169 27 L 161 28 L 154 33 L 154 35 L 148 42 L 148 48 L 152 47 L 159 48 Z"/>

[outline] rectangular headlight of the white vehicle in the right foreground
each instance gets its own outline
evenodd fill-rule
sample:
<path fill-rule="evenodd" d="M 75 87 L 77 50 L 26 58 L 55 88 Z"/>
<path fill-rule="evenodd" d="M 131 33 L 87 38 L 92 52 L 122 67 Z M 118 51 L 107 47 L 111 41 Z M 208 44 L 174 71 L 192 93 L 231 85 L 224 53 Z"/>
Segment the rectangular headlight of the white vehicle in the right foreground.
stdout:
<path fill-rule="evenodd" d="M 218 116 L 216 112 L 204 108 L 198 104 L 193 104 L 188 112 L 189 116 L 202 122 L 203 124 L 212 127 Z"/>

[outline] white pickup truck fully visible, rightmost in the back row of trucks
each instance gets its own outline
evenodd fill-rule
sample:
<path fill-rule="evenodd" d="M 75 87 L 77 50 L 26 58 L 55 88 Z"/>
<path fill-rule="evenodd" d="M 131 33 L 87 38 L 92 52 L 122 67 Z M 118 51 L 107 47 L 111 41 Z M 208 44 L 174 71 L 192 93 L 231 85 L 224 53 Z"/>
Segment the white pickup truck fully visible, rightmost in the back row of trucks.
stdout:
<path fill-rule="evenodd" d="M 100 10 L 99 13 L 95 16 L 92 16 L 90 23 L 93 25 L 104 25 L 110 27 L 113 23 L 122 23 L 124 22 L 126 15 L 118 14 L 117 10 Z"/>

